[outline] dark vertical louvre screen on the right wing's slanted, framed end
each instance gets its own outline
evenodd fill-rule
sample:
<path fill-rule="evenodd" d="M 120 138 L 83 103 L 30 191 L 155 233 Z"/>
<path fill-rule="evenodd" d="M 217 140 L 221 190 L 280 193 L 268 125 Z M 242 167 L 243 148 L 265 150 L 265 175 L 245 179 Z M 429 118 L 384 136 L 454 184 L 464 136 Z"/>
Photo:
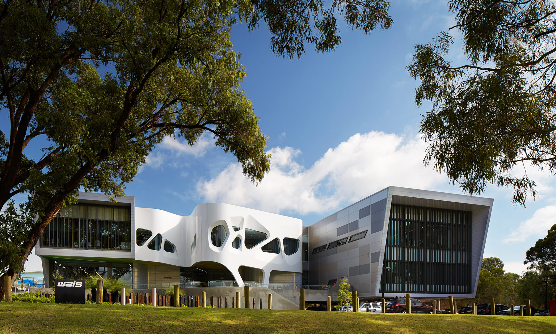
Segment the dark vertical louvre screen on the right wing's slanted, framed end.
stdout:
<path fill-rule="evenodd" d="M 470 293 L 471 212 L 392 204 L 381 292 Z"/>

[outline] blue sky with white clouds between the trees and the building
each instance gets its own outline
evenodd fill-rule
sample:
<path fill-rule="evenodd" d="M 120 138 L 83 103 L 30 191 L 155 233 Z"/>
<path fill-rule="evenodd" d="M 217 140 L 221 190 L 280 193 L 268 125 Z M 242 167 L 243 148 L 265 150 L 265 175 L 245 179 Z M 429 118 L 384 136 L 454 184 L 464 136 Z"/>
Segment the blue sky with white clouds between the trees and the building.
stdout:
<path fill-rule="evenodd" d="M 255 187 L 210 136 L 192 148 L 168 139 L 126 193 L 135 196 L 137 207 L 181 215 L 197 204 L 225 202 L 290 215 L 305 225 L 389 185 L 461 193 L 422 163 L 426 144 L 419 122 L 429 105 L 414 105 L 418 83 L 405 70 L 414 46 L 453 26 L 454 14 L 443 1 L 393 2 L 389 13 L 394 25 L 388 31 L 365 35 L 342 27 L 335 51 L 315 53 L 306 45 L 306 54 L 293 60 L 270 51 L 264 25 L 253 33 L 245 25 L 232 28 L 234 49 L 247 70 L 241 88 L 269 136 L 270 173 Z M 457 46 L 451 58 L 465 61 Z M 556 179 L 528 173 L 539 184 L 539 197 L 527 208 L 512 205 L 512 189 L 489 186 L 482 195 L 494 198 L 485 257 L 499 257 L 516 273 L 525 268 L 526 250 L 556 223 Z M 26 270 L 41 270 L 38 257 Z"/>

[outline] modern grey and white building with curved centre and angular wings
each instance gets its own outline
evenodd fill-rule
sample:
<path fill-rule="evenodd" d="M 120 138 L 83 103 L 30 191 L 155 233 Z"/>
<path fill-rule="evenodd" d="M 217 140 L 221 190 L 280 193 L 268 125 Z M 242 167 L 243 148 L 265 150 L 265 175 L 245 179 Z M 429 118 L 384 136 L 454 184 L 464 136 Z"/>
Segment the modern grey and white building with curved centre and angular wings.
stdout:
<path fill-rule="evenodd" d="M 342 277 L 361 298 L 473 297 L 492 199 L 390 186 L 310 226 L 230 204 L 191 215 L 117 204 L 80 193 L 35 247 L 45 283 L 53 272 L 127 279 L 134 288 L 332 286 Z"/>

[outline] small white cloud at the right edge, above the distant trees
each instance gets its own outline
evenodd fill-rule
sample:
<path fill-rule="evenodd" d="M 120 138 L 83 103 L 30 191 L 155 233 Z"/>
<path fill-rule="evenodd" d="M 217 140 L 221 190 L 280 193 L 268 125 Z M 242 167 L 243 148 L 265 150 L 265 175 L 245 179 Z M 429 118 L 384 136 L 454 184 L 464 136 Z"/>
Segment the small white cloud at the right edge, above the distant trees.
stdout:
<path fill-rule="evenodd" d="M 504 239 L 504 242 L 525 242 L 530 238 L 544 238 L 554 224 L 556 224 L 556 205 L 547 205 L 535 211 L 533 217 L 521 222 L 519 227 Z"/>

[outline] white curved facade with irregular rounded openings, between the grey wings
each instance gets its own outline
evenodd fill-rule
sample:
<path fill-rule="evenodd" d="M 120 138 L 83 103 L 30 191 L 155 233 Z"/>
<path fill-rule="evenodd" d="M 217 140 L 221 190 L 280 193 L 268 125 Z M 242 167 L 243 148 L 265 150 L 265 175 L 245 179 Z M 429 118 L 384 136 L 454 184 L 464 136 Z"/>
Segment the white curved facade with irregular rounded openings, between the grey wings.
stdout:
<path fill-rule="evenodd" d="M 211 242 L 211 231 L 219 225 L 224 226 L 226 237 L 222 245 L 216 247 Z M 239 230 L 235 231 L 233 227 L 239 227 Z M 142 246 L 135 245 L 136 261 L 179 267 L 195 267 L 204 262 L 219 263 L 230 271 L 240 286 L 244 281 L 239 273 L 241 266 L 261 269 L 262 284 L 269 283 L 272 271 L 301 275 L 300 219 L 230 204 L 206 203 L 197 205 L 188 216 L 179 216 L 158 209 L 136 208 L 135 230 L 138 228 L 151 230 L 153 234 Z M 247 249 L 244 243 L 246 229 L 263 232 L 267 238 Z M 147 244 L 158 233 L 162 235 L 162 244 L 168 241 L 175 245 L 175 253 L 166 252 L 163 247 L 161 250 L 147 248 Z M 237 249 L 232 247 L 236 237 L 241 239 L 240 247 Z M 275 238 L 280 240 L 280 252 L 263 252 L 261 248 Z M 297 240 L 297 252 L 285 254 L 284 238 Z"/>

